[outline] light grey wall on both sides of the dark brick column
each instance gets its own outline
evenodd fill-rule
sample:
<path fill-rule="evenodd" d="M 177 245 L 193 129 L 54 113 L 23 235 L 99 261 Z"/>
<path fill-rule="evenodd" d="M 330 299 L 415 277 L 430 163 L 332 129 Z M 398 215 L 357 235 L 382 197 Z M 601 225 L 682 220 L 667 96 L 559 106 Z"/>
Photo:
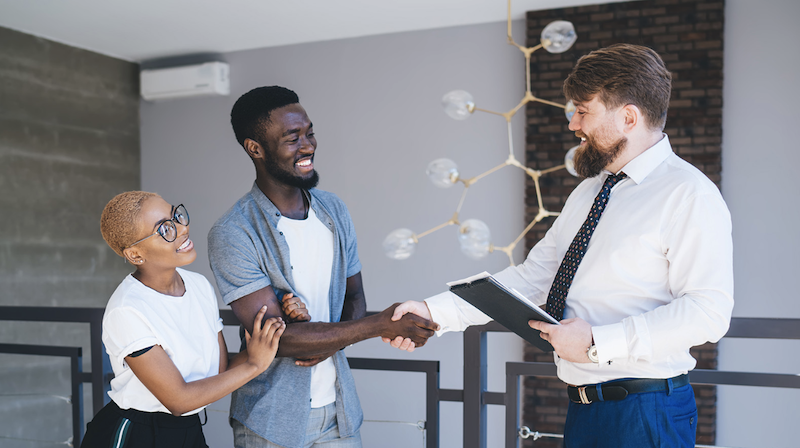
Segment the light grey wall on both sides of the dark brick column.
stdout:
<path fill-rule="evenodd" d="M 798 16 L 798 4 L 791 0 L 726 2 L 723 193 L 734 219 L 737 316 L 800 317 L 797 293 L 790 287 L 800 241 L 791 227 L 798 222 L 794 196 L 800 185 L 790 170 L 800 155 L 789 140 L 798 102 L 794 74 L 800 60 L 791 46 L 798 41 L 793 26 Z M 503 24 L 248 51 L 226 59 L 232 69 L 231 97 L 142 105 L 143 185 L 190 207 L 200 253 L 193 269 L 210 276 L 205 234 L 253 178 L 250 162 L 227 124 L 230 106 L 239 94 L 265 84 L 296 89 L 315 122 L 321 187 L 350 206 L 370 309 L 422 298 L 440 291 L 444 281 L 505 265 L 498 254 L 481 262 L 465 260 L 450 231 L 423 239 L 418 253 L 405 262 L 386 259 L 380 249 L 391 229 L 424 230 L 452 213 L 459 192 L 427 183 L 424 169 L 429 160 L 448 156 L 471 174 L 502 159 L 502 120 L 476 115 L 455 122 L 441 112 L 438 99 L 463 88 L 490 109 L 516 103 L 523 85 L 521 57 L 505 46 Z M 470 192 L 463 216 L 483 217 L 498 235 L 495 240 L 505 244 L 524 225 L 522 182 L 521 175 L 508 171 L 479 183 Z M 492 343 L 492 366 L 518 357 L 517 341 Z M 723 341 L 720 368 L 797 373 L 797 348 L 774 341 L 758 346 Z M 439 359 L 442 386 L 459 388 L 460 350 L 460 336 L 447 335 L 412 355 L 393 352 L 377 341 L 359 344 L 348 353 Z M 502 390 L 498 372 L 492 372 L 493 390 Z M 418 390 L 421 380 L 371 373 L 359 374 L 358 379 L 367 418 L 422 418 L 421 396 L 408 392 Z M 796 391 L 720 387 L 718 443 L 795 446 L 790 419 L 797 415 L 798 398 Z M 216 411 L 210 418 L 224 426 L 224 404 L 212 409 Z M 457 404 L 442 407 L 443 446 L 461 445 L 460 409 Z M 499 432 L 501 417 L 494 413 L 492 418 L 490 426 Z M 414 431 L 404 425 L 368 423 L 364 439 L 366 446 L 386 446 L 386 440 L 397 441 L 396 446 L 419 446 Z M 226 440 L 220 439 L 218 446 L 226 446 Z"/>

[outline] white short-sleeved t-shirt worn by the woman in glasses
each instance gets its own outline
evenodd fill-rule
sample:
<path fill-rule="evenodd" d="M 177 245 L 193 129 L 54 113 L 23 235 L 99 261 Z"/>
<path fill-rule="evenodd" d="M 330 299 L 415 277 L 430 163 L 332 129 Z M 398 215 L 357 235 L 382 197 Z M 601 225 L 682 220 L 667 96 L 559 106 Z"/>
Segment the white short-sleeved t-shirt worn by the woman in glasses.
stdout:
<path fill-rule="evenodd" d="M 103 343 L 114 370 L 108 395 L 122 409 L 169 413 L 125 362 L 137 350 L 160 345 L 186 382 L 219 373 L 222 319 L 214 288 L 200 274 L 177 271 L 186 286 L 182 297 L 161 294 L 128 275 L 106 305 Z"/>

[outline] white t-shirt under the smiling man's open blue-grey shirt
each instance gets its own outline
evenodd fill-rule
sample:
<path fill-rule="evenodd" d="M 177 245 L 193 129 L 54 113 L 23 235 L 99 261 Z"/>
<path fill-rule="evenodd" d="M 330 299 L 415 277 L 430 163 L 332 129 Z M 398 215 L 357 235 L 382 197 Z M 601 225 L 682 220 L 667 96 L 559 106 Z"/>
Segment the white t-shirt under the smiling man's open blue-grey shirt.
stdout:
<path fill-rule="evenodd" d="M 330 286 L 333 269 L 333 232 L 309 208 L 308 219 L 281 216 L 278 230 L 289 245 L 292 278 L 312 322 L 330 322 Z M 311 407 L 336 401 L 336 367 L 328 358 L 311 367 Z"/>

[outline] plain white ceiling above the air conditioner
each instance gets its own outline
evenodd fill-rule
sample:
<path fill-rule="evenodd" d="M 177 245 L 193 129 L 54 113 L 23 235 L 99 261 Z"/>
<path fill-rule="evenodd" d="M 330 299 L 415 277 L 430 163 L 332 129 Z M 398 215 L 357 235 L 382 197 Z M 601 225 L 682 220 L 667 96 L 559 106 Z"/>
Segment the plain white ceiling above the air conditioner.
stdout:
<path fill-rule="evenodd" d="M 525 11 L 625 0 L 515 0 Z M 0 0 L 0 26 L 128 61 L 505 21 L 505 0 Z"/>

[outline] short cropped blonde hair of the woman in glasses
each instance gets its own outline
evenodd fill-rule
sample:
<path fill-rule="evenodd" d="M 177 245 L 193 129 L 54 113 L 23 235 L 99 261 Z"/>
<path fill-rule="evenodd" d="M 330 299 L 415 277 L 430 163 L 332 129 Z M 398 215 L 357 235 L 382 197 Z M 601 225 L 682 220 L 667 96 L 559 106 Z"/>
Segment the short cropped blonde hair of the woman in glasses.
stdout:
<path fill-rule="evenodd" d="M 122 250 L 136 241 L 142 204 L 150 198 L 161 197 L 147 191 L 126 191 L 108 201 L 100 216 L 100 232 L 108 246 L 120 257 Z"/>

